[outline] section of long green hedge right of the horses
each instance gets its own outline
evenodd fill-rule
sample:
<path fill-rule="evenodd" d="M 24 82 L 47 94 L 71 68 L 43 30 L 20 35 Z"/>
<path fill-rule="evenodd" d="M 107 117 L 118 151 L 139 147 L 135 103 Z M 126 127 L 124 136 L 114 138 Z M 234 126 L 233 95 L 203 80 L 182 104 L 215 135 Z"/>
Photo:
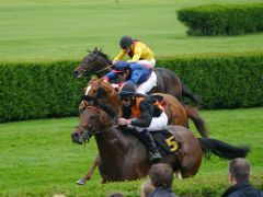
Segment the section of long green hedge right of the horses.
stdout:
<path fill-rule="evenodd" d="M 190 89 L 205 108 L 256 107 L 263 104 L 263 55 L 161 60 Z"/>

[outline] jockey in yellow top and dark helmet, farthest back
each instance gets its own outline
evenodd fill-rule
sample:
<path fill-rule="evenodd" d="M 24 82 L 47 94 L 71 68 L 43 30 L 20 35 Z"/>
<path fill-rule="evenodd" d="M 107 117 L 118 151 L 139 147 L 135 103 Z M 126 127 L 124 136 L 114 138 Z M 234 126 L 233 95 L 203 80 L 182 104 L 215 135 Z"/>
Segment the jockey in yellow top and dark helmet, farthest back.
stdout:
<path fill-rule="evenodd" d="M 138 61 L 139 63 L 146 63 L 152 68 L 156 66 L 155 55 L 151 49 L 146 46 L 144 43 L 133 39 L 129 36 L 124 36 L 119 40 L 119 46 L 122 50 L 113 59 L 113 63 L 118 60 L 122 60 L 124 56 L 128 55 L 132 59 L 128 62 Z"/>

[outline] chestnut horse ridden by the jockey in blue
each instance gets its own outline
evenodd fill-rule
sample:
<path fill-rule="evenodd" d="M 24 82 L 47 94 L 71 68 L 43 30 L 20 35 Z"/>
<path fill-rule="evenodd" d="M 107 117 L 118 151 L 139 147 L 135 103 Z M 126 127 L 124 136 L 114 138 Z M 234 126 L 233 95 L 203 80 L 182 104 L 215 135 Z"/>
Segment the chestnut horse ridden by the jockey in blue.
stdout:
<path fill-rule="evenodd" d="M 117 92 L 110 83 L 103 82 L 102 79 L 91 80 L 87 89 L 84 90 L 84 96 L 88 96 L 88 97 L 92 96 L 92 97 L 103 100 L 105 104 L 115 108 L 115 111 L 118 112 L 117 116 L 121 117 L 122 102 L 118 99 Z M 164 112 L 168 115 L 169 125 L 187 127 L 188 119 L 191 119 L 194 123 L 201 136 L 205 138 L 208 137 L 205 121 L 199 116 L 199 113 L 196 108 L 187 105 L 182 105 L 174 96 L 170 94 L 155 93 L 152 95 L 163 99 Z M 82 100 L 79 106 L 79 111 L 82 111 L 88 105 L 89 105 L 89 102 L 85 100 Z"/>

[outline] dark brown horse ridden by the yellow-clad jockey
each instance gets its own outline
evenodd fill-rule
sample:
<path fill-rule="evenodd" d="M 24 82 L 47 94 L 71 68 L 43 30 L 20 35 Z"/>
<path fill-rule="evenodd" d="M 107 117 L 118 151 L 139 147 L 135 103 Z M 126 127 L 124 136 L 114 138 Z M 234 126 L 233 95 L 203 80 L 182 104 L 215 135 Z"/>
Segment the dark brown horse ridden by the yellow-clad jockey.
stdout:
<path fill-rule="evenodd" d="M 93 51 L 89 51 L 88 56 L 85 56 L 73 70 L 73 76 L 80 78 L 82 76 L 96 74 L 101 78 L 110 72 L 112 67 L 113 65 L 108 57 L 103 54 L 101 49 L 94 48 Z M 171 94 L 179 100 L 185 96 L 195 104 L 199 104 L 199 96 L 194 95 L 174 72 L 164 68 L 155 68 L 155 72 L 157 74 L 157 86 L 155 86 L 149 94 L 161 92 Z"/>

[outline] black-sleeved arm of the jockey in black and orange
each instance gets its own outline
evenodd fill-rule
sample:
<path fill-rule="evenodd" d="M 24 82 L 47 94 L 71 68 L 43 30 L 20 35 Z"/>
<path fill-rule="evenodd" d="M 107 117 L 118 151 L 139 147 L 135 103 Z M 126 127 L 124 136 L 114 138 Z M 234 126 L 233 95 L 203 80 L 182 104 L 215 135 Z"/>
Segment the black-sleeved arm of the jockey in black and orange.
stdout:
<path fill-rule="evenodd" d="M 152 114 L 153 114 L 152 104 L 149 101 L 144 100 L 140 102 L 140 117 L 132 119 L 130 125 L 147 128 L 151 124 Z"/>

